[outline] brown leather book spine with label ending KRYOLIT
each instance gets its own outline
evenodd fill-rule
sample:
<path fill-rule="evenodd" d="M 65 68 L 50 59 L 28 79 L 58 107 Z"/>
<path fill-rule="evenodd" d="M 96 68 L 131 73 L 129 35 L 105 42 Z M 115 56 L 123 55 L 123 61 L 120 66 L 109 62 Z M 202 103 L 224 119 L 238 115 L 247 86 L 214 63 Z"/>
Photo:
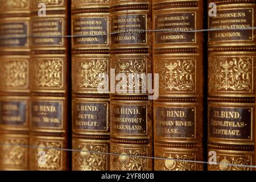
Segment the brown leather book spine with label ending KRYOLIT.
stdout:
<path fill-rule="evenodd" d="M 72 147 L 81 150 L 72 152 L 72 169 L 108 171 L 110 98 L 98 88 L 109 76 L 109 1 L 72 0 L 71 7 Z"/>

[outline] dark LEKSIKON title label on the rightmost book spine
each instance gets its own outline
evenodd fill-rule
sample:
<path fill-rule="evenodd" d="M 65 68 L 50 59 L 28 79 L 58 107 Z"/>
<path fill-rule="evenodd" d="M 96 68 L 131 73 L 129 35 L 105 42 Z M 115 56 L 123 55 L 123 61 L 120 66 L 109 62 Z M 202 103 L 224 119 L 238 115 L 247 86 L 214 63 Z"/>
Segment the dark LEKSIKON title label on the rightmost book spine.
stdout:
<path fill-rule="evenodd" d="M 253 9 L 218 10 L 217 16 L 209 17 L 210 29 L 225 29 L 209 32 L 209 41 L 253 40 Z M 233 29 L 233 30 L 228 30 Z"/>

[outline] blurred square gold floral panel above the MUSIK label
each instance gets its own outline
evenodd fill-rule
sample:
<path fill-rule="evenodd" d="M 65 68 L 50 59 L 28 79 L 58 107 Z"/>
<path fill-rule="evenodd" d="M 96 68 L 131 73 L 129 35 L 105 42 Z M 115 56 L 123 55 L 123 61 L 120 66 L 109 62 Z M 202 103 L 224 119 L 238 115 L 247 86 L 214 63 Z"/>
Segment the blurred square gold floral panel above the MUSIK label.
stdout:
<path fill-rule="evenodd" d="M 31 66 L 34 87 L 63 87 L 63 59 L 35 59 Z"/>

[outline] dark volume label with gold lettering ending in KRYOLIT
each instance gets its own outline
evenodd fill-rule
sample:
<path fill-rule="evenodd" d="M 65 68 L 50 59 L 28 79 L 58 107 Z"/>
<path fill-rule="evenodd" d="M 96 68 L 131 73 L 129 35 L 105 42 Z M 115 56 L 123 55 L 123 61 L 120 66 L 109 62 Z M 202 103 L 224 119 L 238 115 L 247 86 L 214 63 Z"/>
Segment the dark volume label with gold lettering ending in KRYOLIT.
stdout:
<path fill-rule="evenodd" d="M 80 130 L 108 130 L 108 103 L 75 103 L 73 126 Z"/>

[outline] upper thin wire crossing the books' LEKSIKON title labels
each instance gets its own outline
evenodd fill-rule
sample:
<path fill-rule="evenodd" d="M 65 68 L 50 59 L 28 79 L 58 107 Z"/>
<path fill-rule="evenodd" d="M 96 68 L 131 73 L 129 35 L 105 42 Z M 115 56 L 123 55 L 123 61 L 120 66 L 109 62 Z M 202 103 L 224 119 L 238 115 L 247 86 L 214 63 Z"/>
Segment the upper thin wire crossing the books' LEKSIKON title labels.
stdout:
<path fill-rule="evenodd" d="M 256 30 L 256 27 L 246 27 L 246 28 L 210 28 L 201 30 L 175 30 L 169 29 L 159 29 L 159 30 L 134 30 L 134 31 L 118 31 L 108 34 L 96 34 L 96 35 L 57 35 L 57 36 L 34 36 L 34 35 L 24 35 L 24 36 L 0 36 L 0 39 L 21 39 L 21 38 L 84 38 L 92 36 L 105 36 L 114 34 L 124 34 L 124 33 L 138 33 L 138 32 L 184 32 L 184 33 L 196 33 L 196 32 L 209 32 L 209 31 L 225 31 L 225 30 Z"/>

